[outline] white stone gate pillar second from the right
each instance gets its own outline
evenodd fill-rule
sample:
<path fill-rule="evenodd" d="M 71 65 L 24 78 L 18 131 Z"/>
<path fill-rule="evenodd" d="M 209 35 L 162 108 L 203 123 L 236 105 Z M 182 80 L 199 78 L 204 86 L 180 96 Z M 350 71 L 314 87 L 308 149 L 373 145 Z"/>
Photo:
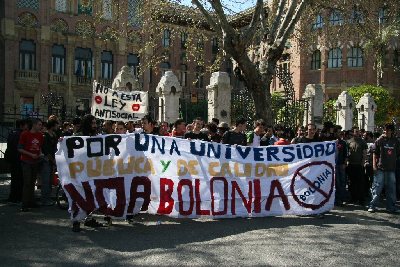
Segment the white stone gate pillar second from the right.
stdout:
<path fill-rule="evenodd" d="M 336 101 L 336 124 L 342 127 L 342 130 L 351 130 L 353 127 L 353 97 L 343 91 Z"/>

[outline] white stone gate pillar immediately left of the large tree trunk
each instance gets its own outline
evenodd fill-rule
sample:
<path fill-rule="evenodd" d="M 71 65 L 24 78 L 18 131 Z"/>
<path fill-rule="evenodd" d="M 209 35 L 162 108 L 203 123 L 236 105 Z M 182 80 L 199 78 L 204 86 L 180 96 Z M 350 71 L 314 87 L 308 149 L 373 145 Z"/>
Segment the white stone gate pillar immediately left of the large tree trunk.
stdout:
<path fill-rule="evenodd" d="M 231 123 L 231 92 L 229 74 L 214 72 L 211 75 L 208 91 L 208 120 L 217 118 L 220 121 Z"/>

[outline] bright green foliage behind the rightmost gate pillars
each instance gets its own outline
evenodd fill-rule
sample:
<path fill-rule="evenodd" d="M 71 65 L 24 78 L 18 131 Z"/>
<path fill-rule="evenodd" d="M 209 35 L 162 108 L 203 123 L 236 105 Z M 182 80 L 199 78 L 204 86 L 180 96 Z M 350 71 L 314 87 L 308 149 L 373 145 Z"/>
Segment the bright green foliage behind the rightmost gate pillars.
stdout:
<path fill-rule="evenodd" d="M 371 94 L 377 105 L 375 124 L 378 126 L 382 126 L 386 122 L 391 122 L 396 110 L 398 110 L 398 104 L 396 104 L 394 97 L 384 87 L 361 85 L 350 87 L 347 92 L 353 97 L 355 103 L 358 103 L 364 94 Z"/>

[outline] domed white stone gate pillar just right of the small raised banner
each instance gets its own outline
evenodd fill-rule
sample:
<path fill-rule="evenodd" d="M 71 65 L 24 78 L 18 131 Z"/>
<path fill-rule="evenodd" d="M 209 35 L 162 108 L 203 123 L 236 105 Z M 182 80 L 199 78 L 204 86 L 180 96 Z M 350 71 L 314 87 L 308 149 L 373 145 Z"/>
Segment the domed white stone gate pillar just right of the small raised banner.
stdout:
<path fill-rule="evenodd" d="M 157 85 L 159 99 L 158 120 L 173 123 L 179 118 L 179 98 L 182 87 L 172 71 L 167 71 Z"/>

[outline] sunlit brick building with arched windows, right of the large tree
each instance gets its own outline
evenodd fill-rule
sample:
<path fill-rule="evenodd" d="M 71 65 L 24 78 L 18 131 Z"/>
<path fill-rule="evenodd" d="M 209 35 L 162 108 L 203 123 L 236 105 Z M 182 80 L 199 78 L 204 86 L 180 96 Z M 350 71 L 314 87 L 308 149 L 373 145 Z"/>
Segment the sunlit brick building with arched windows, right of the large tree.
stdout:
<path fill-rule="evenodd" d="M 384 23 L 386 10 L 384 6 L 376 10 L 376 24 Z M 354 14 L 354 11 L 353 13 Z M 300 45 L 295 39 L 290 40 L 287 49 L 278 65 L 293 73 L 293 84 L 296 98 L 301 98 L 307 84 L 321 84 L 325 99 L 337 99 L 346 88 L 377 83 L 377 72 L 374 69 L 374 58 L 365 51 L 365 40 L 357 31 L 347 37 L 331 41 L 324 36 L 323 27 L 329 24 L 341 27 L 346 21 L 337 10 L 326 11 L 318 15 L 314 24 L 309 25 L 312 31 L 319 33 L 319 43 Z M 371 33 L 374 34 L 374 33 Z M 325 42 L 324 42 L 325 40 Z M 383 65 L 382 86 L 400 99 L 400 38 L 393 38 L 386 47 Z M 272 92 L 282 91 L 282 84 L 275 79 Z"/>

